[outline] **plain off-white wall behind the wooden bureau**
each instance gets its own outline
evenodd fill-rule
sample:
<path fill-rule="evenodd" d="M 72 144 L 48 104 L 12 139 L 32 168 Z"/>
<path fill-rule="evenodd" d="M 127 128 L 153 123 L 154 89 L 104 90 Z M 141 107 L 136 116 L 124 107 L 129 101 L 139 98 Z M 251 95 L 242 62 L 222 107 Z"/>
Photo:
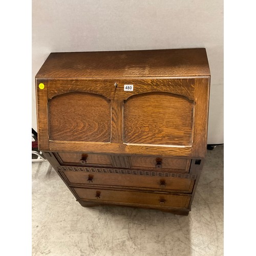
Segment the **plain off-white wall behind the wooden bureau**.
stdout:
<path fill-rule="evenodd" d="M 33 0 L 34 77 L 50 52 L 206 48 L 211 91 L 208 143 L 223 143 L 223 1 Z"/>

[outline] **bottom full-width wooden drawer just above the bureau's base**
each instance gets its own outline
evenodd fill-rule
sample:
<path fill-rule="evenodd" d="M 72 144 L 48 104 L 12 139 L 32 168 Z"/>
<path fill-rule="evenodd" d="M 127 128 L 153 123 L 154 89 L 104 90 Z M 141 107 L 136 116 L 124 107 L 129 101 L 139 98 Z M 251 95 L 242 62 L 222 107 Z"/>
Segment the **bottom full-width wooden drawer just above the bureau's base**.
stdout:
<path fill-rule="evenodd" d="M 113 203 L 188 207 L 190 197 L 167 193 L 146 193 L 111 189 L 74 188 L 80 200 Z"/>

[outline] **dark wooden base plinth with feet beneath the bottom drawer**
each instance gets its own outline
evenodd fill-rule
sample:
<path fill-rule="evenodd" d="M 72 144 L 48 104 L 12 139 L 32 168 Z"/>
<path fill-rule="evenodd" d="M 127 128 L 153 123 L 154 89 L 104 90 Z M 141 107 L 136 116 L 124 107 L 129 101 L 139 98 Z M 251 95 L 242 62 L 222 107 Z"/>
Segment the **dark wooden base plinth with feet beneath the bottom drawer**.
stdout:
<path fill-rule="evenodd" d="M 189 214 L 190 209 L 186 208 L 179 208 L 179 207 L 163 207 L 163 206 L 153 206 L 153 205 L 127 205 L 127 204 L 122 204 L 122 203 L 102 203 L 102 202 L 91 202 L 91 201 L 80 201 L 77 200 L 81 206 L 83 207 L 98 207 L 101 205 L 108 205 L 108 206 L 123 206 L 123 207 L 133 207 L 133 208 L 142 208 L 142 209 L 154 209 L 154 210 L 161 210 L 165 212 L 170 212 L 175 215 L 183 215 L 187 216 Z"/>

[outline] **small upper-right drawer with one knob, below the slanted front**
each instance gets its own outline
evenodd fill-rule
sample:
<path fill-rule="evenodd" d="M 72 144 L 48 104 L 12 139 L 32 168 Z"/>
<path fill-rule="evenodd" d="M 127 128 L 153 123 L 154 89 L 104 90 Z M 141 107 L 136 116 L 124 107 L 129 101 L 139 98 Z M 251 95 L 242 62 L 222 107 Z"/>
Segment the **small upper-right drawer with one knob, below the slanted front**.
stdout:
<path fill-rule="evenodd" d="M 131 156 L 132 168 L 176 169 L 179 173 L 188 173 L 190 162 L 191 159 Z"/>

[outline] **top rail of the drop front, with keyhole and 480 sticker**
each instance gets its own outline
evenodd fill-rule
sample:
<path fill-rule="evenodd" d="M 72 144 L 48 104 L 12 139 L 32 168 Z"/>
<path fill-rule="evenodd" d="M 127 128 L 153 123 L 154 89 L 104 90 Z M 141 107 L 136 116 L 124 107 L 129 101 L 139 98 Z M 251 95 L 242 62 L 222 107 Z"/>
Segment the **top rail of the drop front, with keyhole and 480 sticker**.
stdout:
<path fill-rule="evenodd" d="M 117 87 L 115 87 L 117 83 Z M 48 98 L 68 92 L 89 92 L 112 100 L 125 100 L 145 92 L 168 92 L 194 99 L 195 79 L 48 79 Z M 133 91 L 124 91 L 124 84 L 133 84 Z"/>

